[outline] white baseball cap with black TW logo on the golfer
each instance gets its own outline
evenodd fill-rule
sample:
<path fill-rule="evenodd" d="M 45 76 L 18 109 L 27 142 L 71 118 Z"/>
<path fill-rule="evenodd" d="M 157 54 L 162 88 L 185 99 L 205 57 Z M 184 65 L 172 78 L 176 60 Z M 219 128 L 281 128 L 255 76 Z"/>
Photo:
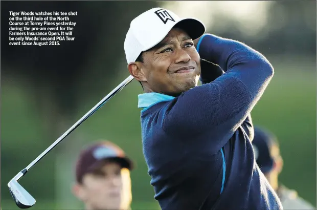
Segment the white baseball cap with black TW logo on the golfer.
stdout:
<path fill-rule="evenodd" d="M 139 55 L 159 44 L 177 24 L 192 39 L 199 38 L 206 28 L 196 18 L 179 18 L 167 9 L 153 8 L 135 17 L 124 40 L 124 51 L 128 64 Z"/>

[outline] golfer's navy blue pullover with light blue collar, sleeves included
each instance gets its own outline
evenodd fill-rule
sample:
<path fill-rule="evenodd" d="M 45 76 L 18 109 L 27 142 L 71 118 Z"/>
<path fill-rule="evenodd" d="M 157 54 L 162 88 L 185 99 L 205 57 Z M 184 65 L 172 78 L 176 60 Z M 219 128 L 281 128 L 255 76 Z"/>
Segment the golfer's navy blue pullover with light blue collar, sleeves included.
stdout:
<path fill-rule="evenodd" d="M 143 152 L 163 210 L 282 209 L 255 162 L 250 113 L 274 69 L 252 48 L 204 34 L 200 57 L 225 72 L 178 97 L 139 95 Z M 210 70 L 212 71 L 212 70 Z"/>

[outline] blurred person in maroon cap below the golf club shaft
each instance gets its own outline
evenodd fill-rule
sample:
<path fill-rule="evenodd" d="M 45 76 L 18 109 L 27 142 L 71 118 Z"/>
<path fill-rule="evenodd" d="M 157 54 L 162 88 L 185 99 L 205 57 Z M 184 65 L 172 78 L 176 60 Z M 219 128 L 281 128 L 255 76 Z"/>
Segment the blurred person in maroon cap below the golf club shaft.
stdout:
<path fill-rule="evenodd" d="M 133 162 L 118 145 L 97 141 L 83 149 L 76 163 L 73 194 L 85 209 L 131 209 Z"/>

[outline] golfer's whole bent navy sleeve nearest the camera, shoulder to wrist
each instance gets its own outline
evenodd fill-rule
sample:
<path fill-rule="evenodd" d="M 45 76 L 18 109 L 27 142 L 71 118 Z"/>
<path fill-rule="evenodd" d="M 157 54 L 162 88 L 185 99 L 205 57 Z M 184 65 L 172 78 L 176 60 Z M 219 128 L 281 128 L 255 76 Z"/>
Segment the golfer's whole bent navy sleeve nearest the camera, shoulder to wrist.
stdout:
<path fill-rule="evenodd" d="M 246 120 L 274 69 L 262 54 L 239 41 L 207 34 L 200 49 L 208 52 L 209 57 L 199 53 L 203 59 L 219 65 L 225 73 L 169 101 L 163 129 L 180 138 L 214 131 L 215 149 L 219 150 Z"/>

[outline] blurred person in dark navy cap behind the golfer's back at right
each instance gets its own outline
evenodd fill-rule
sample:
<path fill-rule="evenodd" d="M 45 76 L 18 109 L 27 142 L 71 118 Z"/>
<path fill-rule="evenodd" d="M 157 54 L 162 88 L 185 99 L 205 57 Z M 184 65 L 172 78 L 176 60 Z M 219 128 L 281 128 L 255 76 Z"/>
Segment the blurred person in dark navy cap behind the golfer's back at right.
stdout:
<path fill-rule="evenodd" d="M 289 190 L 279 183 L 278 178 L 282 172 L 283 158 L 280 154 L 277 137 L 264 128 L 255 127 L 252 143 L 256 162 L 280 197 L 283 209 L 316 209 L 299 197 L 295 190 Z"/>

